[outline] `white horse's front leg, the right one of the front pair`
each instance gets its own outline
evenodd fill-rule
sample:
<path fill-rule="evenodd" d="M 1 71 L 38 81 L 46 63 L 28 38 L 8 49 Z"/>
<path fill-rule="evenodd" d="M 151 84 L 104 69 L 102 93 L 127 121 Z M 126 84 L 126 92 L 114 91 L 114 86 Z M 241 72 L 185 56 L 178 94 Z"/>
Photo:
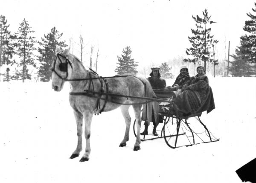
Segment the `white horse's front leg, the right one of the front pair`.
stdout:
<path fill-rule="evenodd" d="M 93 119 L 93 114 L 89 112 L 84 113 L 84 136 L 86 141 L 86 147 L 83 157 L 80 162 L 88 161 L 90 155 L 90 127 Z"/>

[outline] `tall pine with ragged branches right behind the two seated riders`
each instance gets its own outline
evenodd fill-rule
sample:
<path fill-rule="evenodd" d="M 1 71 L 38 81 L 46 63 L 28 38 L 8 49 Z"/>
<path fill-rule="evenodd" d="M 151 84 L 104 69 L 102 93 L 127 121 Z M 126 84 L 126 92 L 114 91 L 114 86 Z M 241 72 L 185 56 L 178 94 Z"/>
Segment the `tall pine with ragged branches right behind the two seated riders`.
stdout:
<path fill-rule="evenodd" d="M 207 9 L 204 10 L 203 15 L 203 18 L 199 17 L 198 15 L 196 15 L 196 17 L 192 15 L 193 20 L 196 22 L 196 29 L 191 29 L 191 32 L 194 36 L 188 38 L 189 42 L 192 44 L 192 47 L 186 49 L 186 54 L 192 55 L 193 58 L 184 59 L 183 61 L 196 63 L 202 59 L 203 55 L 208 58 L 209 62 L 213 61 L 212 57 L 215 53 L 211 50 L 213 45 L 218 43 L 218 41 L 213 39 L 213 35 L 210 35 L 212 28 L 207 27 L 209 24 L 216 22 L 210 20 L 211 16 L 208 15 Z M 206 68 L 207 59 L 204 59 L 203 61 L 204 68 Z"/>

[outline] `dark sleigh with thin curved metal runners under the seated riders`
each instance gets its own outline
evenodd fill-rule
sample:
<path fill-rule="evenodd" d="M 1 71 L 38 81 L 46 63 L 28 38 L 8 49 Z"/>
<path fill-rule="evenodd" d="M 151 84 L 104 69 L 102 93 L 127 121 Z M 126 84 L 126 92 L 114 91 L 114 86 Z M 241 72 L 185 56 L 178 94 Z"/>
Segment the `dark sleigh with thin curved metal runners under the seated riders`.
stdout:
<path fill-rule="evenodd" d="M 154 90 L 157 97 L 163 100 L 175 100 L 176 96 L 175 93 L 169 90 Z M 201 143 L 208 143 L 208 142 L 217 142 L 219 139 L 215 138 L 209 129 L 204 125 L 201 121 L 200 116 L 202 112 L 194 113 L 189 116 L 182 116 L 180 114 L 177 107 L 175 107 L 174 103 L 165 103 L 159 102 L 160 112 L 159 116 L 162 117 L 163 126 L 161 130 L 157 130 L 158 136 L 151 136 L 149 135 L 142 135 L 141 140 L 153 140 L 164 138 L 166 144 L 170 148 L 178 148 L 182 146 L 192 146 Z M 195 122 L 188 122 L 188 119 L 196 119 Z M 196 123 L 196 122 L 199 122 Z M 150 126 L 153 126 L 152 123 Z M 148 127 L 148 131 L 150 129 Z M 160 125 L 158 125 L 160 126 Z M 204 128 L 202 128 L 204 127 Z M 198 129 L 201 128 L 201 129 Z M 137 137 L 136 130 L 135 130 L 135 121 L 133 125 L 134 135 Z M 196 129 L 196 132 L 192 129 Z M 159 133 L 160 131 L 160 133 Z"/>

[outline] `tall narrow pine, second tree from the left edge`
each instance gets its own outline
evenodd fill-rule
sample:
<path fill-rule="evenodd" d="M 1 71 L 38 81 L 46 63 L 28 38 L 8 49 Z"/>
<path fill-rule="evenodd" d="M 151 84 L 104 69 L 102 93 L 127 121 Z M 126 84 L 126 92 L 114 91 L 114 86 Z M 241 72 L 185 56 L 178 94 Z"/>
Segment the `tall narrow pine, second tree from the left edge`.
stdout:
<path fill-rule="evenodd" d="M 23 19 L 18 28 L 18 32 L 15 33 L 15 38 L 17 42 L 15 45 L 17 46 L 17 55 L 20 56 L 21 61 L 18 63 L 19 67 L 22 67 L 22 82 L 24 79 L 29 78 L 26 70 L 29 65 L 35 67 L 35 60 L 33 58 L 33 51 L 36 50 L 34 47 L 35 37 L 32 34 L 35 32 L 31 29 L 29 23 Z"/>

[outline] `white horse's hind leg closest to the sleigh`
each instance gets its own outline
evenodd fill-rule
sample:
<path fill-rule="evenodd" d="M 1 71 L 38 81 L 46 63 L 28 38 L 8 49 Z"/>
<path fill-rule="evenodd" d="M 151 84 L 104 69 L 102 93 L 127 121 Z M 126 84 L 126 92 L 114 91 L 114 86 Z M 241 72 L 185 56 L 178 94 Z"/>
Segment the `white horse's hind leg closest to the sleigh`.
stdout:
<path fill-rule="evenodd" d="M 134 144 L 134 151 L 140 150 L 140 126 L 141 126 L 141 107 L 142 105 L 133 105 L 136 120 L 136 127 L 137 127 L 137 137 L 136 142 Z"/>

